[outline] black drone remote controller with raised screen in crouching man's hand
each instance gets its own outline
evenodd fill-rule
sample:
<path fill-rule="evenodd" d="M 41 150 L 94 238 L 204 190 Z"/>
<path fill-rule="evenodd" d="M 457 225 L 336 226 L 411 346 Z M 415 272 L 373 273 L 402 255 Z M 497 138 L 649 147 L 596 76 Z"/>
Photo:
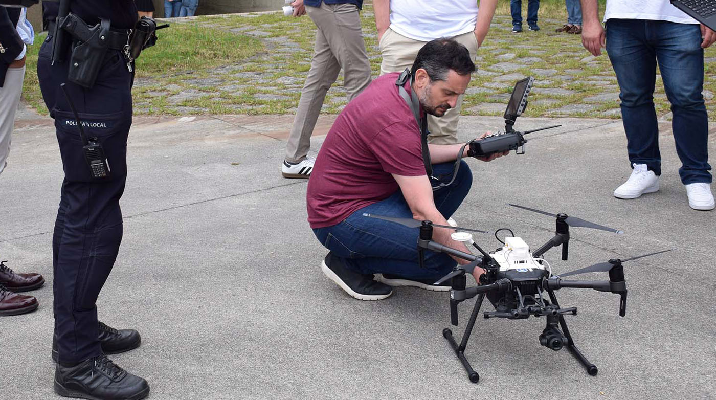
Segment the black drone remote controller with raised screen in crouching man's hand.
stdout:
<path fill-rule="evenodd" d="M 524 154 L 524 149 L 521 149 L 521 147 L 523 147 L 527 142 L 524 135 L 540 130 L 561 127 L 561 125 L 553 125 L 551 127 L 528 130 L 525 132 L 516 132 L 516 130 L 513 129 L 515 120 L 527 107 L 527 96 L 530 94 L 533 82 L 533 77 L 526 77 L 525 79 L 519 80 L 515 84 L 515 89 L 512 91 L 510 102 L 508 102 L 507 109 L 505 109 L 505 132 L 486 136 L 480 140 L 473 140 L 470 142 L 470 150 L 468 150 L 468 155 L 470 155 L 470 157 L 486 157 L 495 152 L 508 152 L 511 150 L 515 150 L 517 154 Z"/>

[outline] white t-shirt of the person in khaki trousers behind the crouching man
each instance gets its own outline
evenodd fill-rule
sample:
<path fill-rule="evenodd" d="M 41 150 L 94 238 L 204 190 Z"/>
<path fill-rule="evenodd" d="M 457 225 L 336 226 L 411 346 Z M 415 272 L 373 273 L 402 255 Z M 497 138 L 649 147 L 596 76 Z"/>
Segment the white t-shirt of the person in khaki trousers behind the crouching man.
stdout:
<path fill-rule="evenodd" d="M 390 0 L 390 29 L 410 39 L 430 42 L 475 30 L 477 0 Z"/>

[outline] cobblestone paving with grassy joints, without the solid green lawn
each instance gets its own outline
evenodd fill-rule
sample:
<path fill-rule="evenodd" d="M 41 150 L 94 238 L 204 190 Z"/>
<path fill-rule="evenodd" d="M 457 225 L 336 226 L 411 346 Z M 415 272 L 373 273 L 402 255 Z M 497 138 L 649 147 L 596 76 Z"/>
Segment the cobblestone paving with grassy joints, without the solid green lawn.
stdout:
<path fill-rule="evenodd" d="M 370 4 L 362 24 L 373 76 L 380 55 Z M 488 38 L 478 50 L 478 72 L 465 95 L 463 114 L 502 114 L 516 80 L 536 78 L 526 115 L 531 117 L 619 118 L 619 87 L 606 54 L 592 57 L 578 35 L 554 32 L 556 19 L 541 19 L 542 30 L 511 33 L 511 19 L 495 16 Z M 264 51 L 233 65 L 188 71 L 159 79 L 138 79 L 138 114 L 284 114 L 293 113 L 310 67 L 315 26 L 308 16 L 280 13 L 205 16 L 178 19 L 204 29 L 223 29 L 253 36 Z M 238 43 L 241 45 L 241 43 Z M 716 51 L 707 49 L 704 97 L 713 104 L 716 91 Z M 661 78 L 657 76 L 654 103 L 662 119 L 670 119 Z M 346 104 L 342 76 L 329 90 L 321 112 L 336 114 Z M 711 117 L 713 116 L 713 117 Z M 711 114 L 716 120 L 716 114 Z"/>

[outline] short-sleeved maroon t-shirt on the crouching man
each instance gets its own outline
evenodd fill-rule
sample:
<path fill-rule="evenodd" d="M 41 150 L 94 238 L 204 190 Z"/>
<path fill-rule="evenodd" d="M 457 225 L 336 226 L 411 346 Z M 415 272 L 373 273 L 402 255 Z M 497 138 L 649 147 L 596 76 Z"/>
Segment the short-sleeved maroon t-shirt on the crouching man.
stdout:
<path fill-rule="evenodd" d="M 400 190 L 391 174 L 426 175 L 420 130 L 395 80 L 375 79 L 349 102 L 316 157 L 306 193 L 311 228 L 336 225 Z M 410 84 L 405 84 L 410 94 Z"/>

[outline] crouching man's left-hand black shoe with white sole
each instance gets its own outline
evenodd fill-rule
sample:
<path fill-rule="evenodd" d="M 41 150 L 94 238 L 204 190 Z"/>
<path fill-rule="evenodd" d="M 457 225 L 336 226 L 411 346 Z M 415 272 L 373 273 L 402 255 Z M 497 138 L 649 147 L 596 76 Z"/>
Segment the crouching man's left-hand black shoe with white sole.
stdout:
<path fill-rule="evenodd" d="M 346 293 L 358 300 L 382 300 L 393 294 L 390 286 L 377 282 L 373 275 L 363 275 L 349 270 L 342 260 L 328 253 L 321 263 L 321 270 Z"/>

